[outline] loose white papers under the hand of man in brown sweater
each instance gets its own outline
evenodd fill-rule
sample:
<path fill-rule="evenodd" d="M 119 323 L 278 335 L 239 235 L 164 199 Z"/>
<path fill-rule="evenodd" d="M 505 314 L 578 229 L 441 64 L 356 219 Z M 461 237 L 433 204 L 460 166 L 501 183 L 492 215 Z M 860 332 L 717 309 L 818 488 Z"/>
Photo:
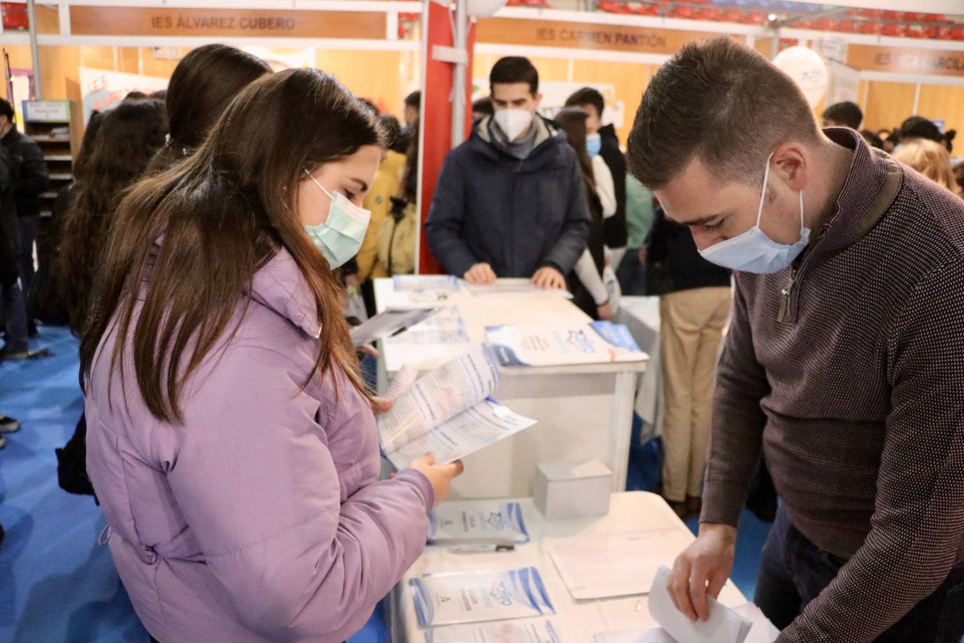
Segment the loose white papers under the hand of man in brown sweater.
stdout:
<path fill-rule="evenodd" d="M 669 574 L 669 568 L 660 567 L 650 589 L 650 615 L 660 627 L 604 632 L 593 643 L 772 643 L 780 635 L 756 605 L 730 609 L 711 596 L 710 619 L 690 621 L 673 605 L 666 589 Z"/>

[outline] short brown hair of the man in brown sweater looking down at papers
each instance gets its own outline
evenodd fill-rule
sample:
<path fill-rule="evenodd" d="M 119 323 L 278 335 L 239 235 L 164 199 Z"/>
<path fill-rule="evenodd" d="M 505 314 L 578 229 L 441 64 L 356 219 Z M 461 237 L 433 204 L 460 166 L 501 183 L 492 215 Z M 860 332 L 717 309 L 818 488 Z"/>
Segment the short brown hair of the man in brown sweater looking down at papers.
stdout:
<path fill-rule="evenodd" d="M 693 41 L 659 67 L 643 94 L 629 133 L 629 170 L 660 188 L 698 155 L 722 178 L 762 181 L 778 145 L 817 137 L 790 76 L 727 37 Z"/>

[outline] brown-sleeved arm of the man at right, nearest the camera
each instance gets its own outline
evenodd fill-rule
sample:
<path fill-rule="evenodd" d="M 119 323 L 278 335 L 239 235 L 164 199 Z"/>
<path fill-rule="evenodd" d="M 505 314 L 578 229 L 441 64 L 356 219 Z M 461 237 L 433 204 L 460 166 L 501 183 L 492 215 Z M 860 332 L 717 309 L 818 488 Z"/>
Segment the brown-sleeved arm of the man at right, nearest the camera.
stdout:
<path fill-rule="evenodd" d="M 891 387 L 870 533 L 777 639 L 870 641 L 937 589 L 964 533 L 964 264 L 917 284 L 888 332 Z"/>

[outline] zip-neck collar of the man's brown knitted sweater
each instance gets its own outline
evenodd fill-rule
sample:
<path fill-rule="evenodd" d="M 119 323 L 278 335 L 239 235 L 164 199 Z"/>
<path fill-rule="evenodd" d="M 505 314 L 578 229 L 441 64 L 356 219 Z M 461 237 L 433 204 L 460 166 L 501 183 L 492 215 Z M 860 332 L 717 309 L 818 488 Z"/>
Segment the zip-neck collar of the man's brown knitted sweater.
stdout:
<path fill-rule="evenodd" d="M 903 173 L 894 159 L 871 148 L 858 132 L 831 127 L 823 133 L 837 145 L 853 149 L 844 188 L 818 243 L 820 252 L 833 252 L 856 243 L 880 221 L 897 198 Z"/>

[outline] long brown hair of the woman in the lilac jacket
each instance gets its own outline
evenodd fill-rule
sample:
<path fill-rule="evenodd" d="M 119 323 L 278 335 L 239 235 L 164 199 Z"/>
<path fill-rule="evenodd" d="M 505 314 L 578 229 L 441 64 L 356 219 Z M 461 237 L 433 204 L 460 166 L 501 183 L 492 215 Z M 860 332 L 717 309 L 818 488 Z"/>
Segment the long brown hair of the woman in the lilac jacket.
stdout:
<path fill-rule="evenodd" d="M 246 309 L 250 302 L 254 273 L 284 248 L 308 281 L 321 323 L 309 378 L 341 368 L 364 391 L 339 284 L 309 241 L 295 203 L 304 168 L 371 145 L 384 146 L 378 118 L 329 74 L 288 69 L 245 88 L 195 154 L 144 179 L 120 203 L 81 341 L 83 380 L 91 377 L 101 339 L 116 331 L 113 356 L 103 356 L 112 360 L 112 373 L 120 364 L 123 377 L 129 341 L 150 413 L 181 421 L 184 383 L 236 331 L 228 324 L 238 303 Z M 135 315 L 138 299 L 143 305 Z"/>

